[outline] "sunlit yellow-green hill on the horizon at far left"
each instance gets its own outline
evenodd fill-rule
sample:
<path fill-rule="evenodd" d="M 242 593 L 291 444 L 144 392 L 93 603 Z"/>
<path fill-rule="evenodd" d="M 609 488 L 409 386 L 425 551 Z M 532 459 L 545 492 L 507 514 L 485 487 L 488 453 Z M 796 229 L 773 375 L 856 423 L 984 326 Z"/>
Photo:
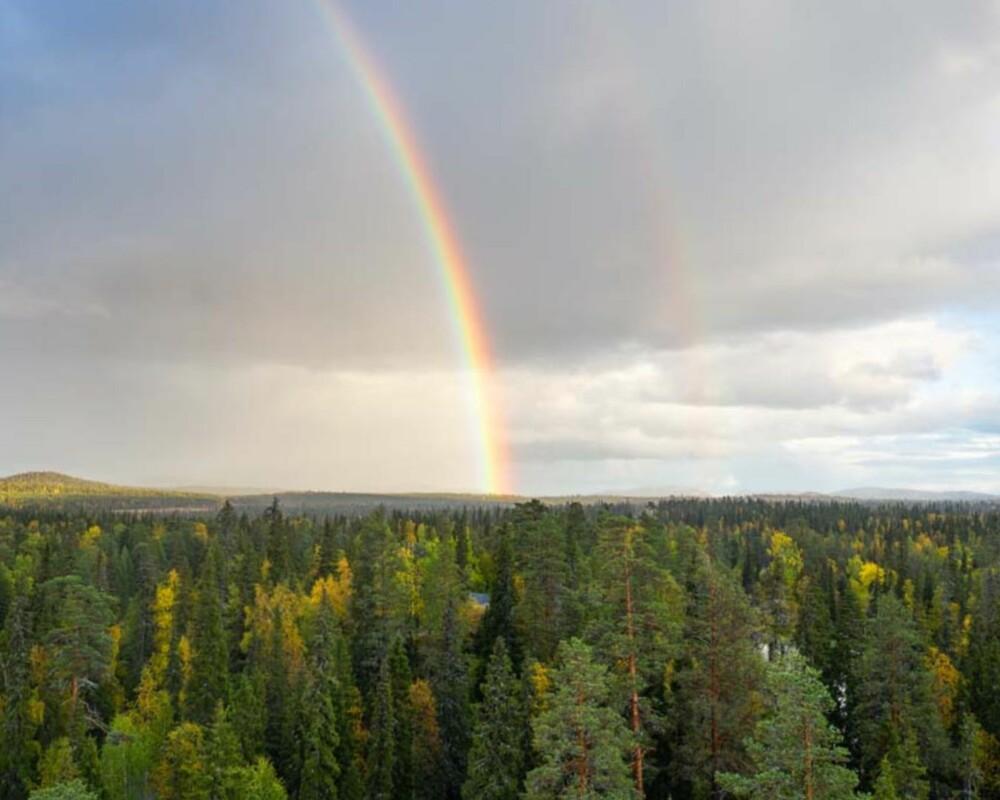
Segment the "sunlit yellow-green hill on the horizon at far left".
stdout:
<path fill-rule="evenodd" d="M 208 509 L 218 499 L 206 494 L 117 486 L 61 472 L 21 472 L 0 478 L 0 505 L 100 507 L 121 510 Z"/>

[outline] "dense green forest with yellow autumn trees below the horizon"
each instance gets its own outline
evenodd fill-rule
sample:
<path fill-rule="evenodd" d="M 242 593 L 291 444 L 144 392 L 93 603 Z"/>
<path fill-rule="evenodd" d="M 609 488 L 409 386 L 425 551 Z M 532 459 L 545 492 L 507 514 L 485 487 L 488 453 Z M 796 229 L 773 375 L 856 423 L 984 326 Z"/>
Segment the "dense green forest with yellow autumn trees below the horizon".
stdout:
<path fill-rule="evenodd" d="M 8 800 L 1000 798 L 1000 512 L 0 513 Z"/>

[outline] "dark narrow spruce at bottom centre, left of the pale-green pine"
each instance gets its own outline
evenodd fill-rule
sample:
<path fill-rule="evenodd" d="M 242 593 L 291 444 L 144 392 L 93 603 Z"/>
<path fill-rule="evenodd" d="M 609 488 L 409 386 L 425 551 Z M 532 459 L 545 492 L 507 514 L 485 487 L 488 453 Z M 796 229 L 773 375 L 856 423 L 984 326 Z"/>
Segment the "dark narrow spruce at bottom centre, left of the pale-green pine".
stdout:
<path fill-rule="evenodd" d="M 527 715 L 507 645 L 497 637 L 469 749 L 465 800 L 517 800 L 524 778 Z"/>

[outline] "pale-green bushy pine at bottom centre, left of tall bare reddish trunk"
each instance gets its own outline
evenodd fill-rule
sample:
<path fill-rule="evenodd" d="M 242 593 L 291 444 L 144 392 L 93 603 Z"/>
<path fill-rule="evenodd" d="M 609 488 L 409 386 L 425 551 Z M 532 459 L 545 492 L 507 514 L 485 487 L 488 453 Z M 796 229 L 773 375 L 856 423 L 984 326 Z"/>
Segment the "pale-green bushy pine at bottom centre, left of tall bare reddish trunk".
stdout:
<path fill-rule="evenodd" d="M 532 723 L 541 763 L 528 773 L 527 800 L 635 798 L 632 737 L 608 705 L 607 670 L 579 639 L 560 645 L 558 661 L 548 707 Z"/>

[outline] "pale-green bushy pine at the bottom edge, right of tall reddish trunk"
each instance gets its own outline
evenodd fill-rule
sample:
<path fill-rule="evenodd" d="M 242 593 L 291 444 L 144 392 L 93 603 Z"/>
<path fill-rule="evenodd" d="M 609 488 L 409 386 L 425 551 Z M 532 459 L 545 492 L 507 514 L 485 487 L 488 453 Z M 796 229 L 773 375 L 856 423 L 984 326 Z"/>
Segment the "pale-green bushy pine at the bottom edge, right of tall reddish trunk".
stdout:
<path fill-rule="evenodd" d="M 833 700 L 819 673 L 795 650 L 768 665 L 770 711 L 747 744 L 747 776 L 721 773 L 719 785 L 754 800 L 853 800 L 858 777 L 827 720 Z"/>

